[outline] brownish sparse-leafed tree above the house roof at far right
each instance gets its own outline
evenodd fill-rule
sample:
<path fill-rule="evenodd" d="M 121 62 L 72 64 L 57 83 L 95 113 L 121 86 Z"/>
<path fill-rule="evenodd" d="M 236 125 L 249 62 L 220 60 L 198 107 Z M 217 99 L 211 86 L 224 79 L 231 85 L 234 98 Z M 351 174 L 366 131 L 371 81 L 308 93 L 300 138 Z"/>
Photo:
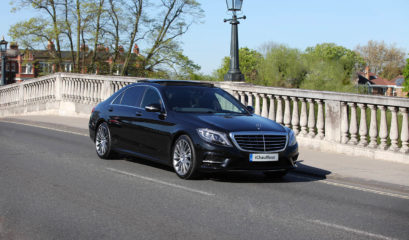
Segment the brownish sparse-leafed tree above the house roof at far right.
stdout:
<path fill-rule="evenodd" d="M 367 45 L 358 45 L 356 51 L 365 59 L 370 71 L 382 78 L 392 79 L 398 76 L 405 65 L 405 52 L 384 41 L 370 40 Z"/>

